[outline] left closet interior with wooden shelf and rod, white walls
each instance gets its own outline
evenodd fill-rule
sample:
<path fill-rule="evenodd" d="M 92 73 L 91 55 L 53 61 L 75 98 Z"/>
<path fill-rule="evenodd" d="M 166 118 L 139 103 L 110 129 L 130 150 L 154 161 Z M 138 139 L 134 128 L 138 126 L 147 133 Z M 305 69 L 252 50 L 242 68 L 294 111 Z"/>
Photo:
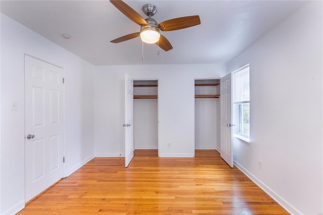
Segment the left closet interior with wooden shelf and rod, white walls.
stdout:
<path fill-rule="evenodd" d="M 134 80 L 135 149 L 158 149 L 158 81 Z"/>

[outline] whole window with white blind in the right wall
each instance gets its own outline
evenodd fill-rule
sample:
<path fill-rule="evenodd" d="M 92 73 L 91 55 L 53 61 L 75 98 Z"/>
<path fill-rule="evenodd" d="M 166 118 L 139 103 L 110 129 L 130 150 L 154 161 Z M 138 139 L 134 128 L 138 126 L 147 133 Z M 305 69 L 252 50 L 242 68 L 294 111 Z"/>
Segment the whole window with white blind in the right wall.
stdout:
<path fill-rule="evenodd" d="M 250 86 L 249 65 L 233 74 L 234 91 L 234 120 L 237 125 L 235 137 L 249 142 L 250 137 Z"/>

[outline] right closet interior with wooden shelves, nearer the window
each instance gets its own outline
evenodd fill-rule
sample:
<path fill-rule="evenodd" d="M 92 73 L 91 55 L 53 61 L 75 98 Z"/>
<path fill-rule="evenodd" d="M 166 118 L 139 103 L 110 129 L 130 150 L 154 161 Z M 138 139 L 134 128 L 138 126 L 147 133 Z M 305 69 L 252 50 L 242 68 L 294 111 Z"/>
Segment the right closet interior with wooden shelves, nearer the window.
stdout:
<path fill-rule="evenodd" d="M 195 80 L 195 149 L 220 150 L 220 79 Z"/>

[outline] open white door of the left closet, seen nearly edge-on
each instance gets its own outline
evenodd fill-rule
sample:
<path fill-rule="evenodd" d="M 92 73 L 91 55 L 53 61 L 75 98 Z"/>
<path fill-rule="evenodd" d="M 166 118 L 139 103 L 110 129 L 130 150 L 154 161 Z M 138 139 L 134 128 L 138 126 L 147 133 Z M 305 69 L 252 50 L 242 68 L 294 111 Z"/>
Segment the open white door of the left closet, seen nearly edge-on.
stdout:
<path fill-rule="evenodd" d="M 135 150 L 133 142 L 133 79 L 125 75 L 125 166 L 128 167 Z"/>

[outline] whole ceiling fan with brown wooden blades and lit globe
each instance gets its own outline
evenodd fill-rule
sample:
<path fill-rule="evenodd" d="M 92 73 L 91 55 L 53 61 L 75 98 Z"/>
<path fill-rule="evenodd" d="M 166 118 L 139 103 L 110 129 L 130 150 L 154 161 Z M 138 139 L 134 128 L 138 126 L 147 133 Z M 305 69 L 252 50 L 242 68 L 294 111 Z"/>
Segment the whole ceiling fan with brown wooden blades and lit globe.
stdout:
<path fill-rule="evenodd" d="M 140 36 L 143 42 L 155 43 L 160 48 L 168 51 L 171 50 L 173 46 L 165 36 L 159 33 L 159 31 L 174 31 L 201 24 L 198 15 L 170 19 L 158 24 L 156 20 L 151 18 L 157 11 L 156 6 L 154 5 L 147 4 L 142 7 L 142 11 L 148 16 L 147 19 L 144 19 L 123 1 L 110 0 L 110 2 L 129 19 L 140 25 L 140 32 L 128 34 L 114 39 L 111 41 L 113 43 L 123 42 Z"/>

